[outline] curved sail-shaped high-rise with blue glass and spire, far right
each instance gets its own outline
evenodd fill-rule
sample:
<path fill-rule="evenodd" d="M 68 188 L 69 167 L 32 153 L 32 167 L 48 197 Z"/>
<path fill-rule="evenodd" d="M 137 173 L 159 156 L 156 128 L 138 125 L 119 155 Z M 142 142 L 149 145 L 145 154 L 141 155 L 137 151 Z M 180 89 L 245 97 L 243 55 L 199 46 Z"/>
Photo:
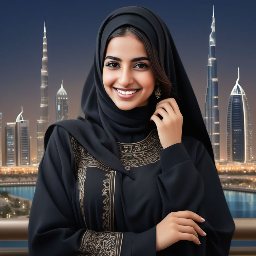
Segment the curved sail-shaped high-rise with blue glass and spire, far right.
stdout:
<path fill-rule="evenodd" d="M 251 162 L 252 127 L 248 101 L 244 90 L 238 83 L 233 87 L 227 109 L 227 155 L 228 162 Z"/>

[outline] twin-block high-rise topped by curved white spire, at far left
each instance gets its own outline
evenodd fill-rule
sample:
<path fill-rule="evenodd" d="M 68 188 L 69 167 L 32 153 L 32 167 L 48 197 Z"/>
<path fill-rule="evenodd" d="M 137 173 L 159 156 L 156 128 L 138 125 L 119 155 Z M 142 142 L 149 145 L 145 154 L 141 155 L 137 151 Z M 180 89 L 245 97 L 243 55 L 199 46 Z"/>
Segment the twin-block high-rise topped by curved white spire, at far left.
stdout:
<path fill-rule="evenodd" d="M 5 125 L 5 162 L 7 166 L 30 164 L 29 120 L 24 120 L 23 108 L 15 122 Z"/>

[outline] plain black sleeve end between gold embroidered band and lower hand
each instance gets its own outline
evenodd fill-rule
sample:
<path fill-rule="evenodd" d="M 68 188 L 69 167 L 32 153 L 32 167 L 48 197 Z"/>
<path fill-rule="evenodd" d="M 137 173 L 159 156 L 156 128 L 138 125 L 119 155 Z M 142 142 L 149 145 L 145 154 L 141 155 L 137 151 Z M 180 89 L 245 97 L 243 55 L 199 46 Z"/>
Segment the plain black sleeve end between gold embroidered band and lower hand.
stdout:
<path fill-rule="evenodd" d="M 121 247 L 121 256 L 155 256 L 156 255 L 156 225 L 144 232 L 125 232 Z"/>

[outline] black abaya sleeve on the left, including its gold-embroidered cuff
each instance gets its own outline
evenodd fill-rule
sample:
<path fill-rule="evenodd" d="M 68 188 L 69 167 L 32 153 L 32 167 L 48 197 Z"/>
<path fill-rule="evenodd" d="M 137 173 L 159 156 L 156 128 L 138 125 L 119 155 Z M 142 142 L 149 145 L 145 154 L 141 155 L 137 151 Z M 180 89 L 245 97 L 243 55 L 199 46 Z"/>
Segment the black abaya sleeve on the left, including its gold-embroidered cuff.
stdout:
<path fill-rule="evenodd" d="M 155 255 L 156 226 L 136 234 L 96 232 L 85 227 L 76 203 L 74 166 L 70 134 L 62 127 L 55 126 L 38 168 L 29 216 L 29 255 L 114 256 L 120 255 L 122 244 L 127 248 L 122 256 L 139 256 L 142 252 Z M 97 215 L 96 212 L 91 214 Z M 100 239 L 95 241 L 93 235 Z M 139 248 L 132 248 L 134 239 L 140 241 Z"/>

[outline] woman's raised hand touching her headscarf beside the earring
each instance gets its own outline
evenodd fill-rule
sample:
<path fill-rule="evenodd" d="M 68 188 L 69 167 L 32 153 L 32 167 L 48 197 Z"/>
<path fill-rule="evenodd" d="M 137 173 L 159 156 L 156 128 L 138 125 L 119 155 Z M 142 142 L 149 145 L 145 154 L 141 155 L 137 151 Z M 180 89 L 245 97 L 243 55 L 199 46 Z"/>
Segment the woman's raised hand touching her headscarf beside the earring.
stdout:
<path fill-rule="evenodd" d="M 162 120 L 157 116 L 158 114 L 163 117 Z M 163 148 L 181 142 L 183 116 L 174 98 L 159 101 L 150 120 L 156 124 Z"/>

